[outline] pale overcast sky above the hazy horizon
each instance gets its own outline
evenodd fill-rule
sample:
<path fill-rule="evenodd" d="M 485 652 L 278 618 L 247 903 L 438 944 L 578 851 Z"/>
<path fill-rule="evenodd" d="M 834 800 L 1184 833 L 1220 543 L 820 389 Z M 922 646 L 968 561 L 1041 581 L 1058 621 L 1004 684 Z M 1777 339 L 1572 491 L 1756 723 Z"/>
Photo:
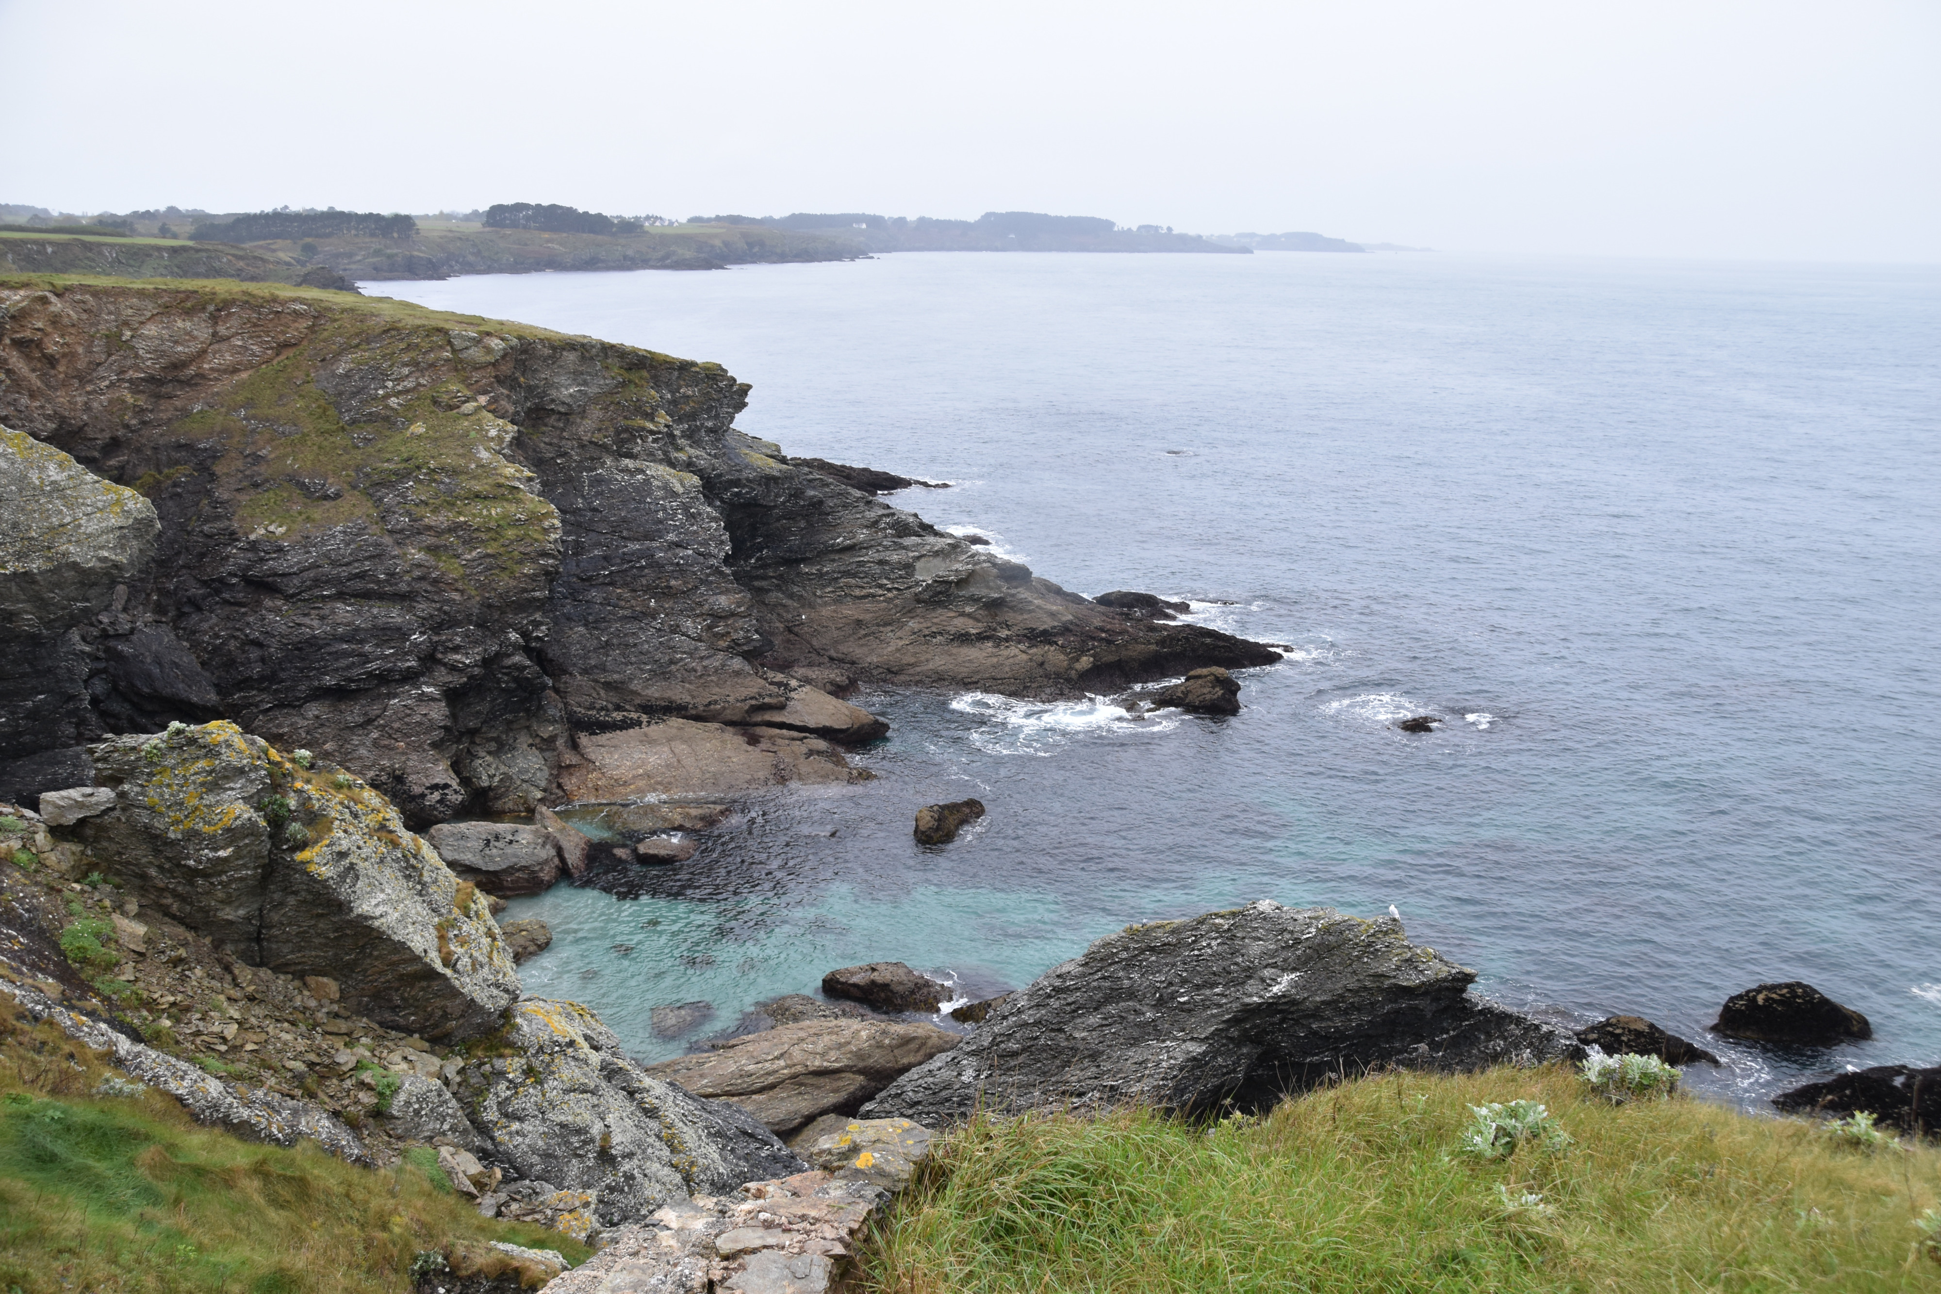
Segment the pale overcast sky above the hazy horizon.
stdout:
<path fill-rule="evenodd" d="M 1937 0 L 0 0 L 0 202 L 1941 260 Z"/>

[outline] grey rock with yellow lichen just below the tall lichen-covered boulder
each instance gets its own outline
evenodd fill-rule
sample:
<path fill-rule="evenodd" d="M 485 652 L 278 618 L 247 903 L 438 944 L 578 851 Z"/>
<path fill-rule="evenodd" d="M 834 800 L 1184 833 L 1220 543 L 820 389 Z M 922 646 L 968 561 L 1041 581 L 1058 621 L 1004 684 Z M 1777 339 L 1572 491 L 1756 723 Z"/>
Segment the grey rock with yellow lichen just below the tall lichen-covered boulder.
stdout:
<path fill-rule="evenodd" d="M 806 1168 L 738 1106 L 642 1073 L 578 1003 L 520 1001 L 507 1042 L 460 1075 L 474 1123 L 518 1176 L 592 1191 L 604 1226 Z"/>

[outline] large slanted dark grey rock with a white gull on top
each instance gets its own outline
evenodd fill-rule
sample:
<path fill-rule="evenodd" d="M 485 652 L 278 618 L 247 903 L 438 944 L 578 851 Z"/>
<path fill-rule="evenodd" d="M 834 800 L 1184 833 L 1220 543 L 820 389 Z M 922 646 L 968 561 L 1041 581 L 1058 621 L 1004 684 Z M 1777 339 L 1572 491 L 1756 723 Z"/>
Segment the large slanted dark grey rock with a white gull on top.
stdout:
<path fill-rule="evenodd" d="M 1473 970 L 1401 922 L 1256 902 L 1130 925 L 1011 993 L 955 1051 L 862 1108 L 930 1127 L 1073 1104 L 1271 1106 L 1378 1065 L 1479 1069 L 1580 1057 L 1553 1024 L 1465 993 Z"/>

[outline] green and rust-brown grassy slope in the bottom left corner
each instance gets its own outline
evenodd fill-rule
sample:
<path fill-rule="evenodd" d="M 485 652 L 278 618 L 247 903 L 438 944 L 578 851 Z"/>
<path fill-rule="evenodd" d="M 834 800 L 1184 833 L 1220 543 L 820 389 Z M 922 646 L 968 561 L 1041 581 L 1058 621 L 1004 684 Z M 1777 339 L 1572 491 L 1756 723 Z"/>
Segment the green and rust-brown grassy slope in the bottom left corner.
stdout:
<path fill-rule="evenodd" d="M 588 1255 L 557 1232 L 481 1218 L 435 1168 L 378 1172 L 254 1145 L 194 1125 L 155 1092 L 93 1096 L 109 1075 L 50 1024 L 0 1013 L 8 1294 L 396 1292 L 417 1251 L 450 1242 Z"/>

